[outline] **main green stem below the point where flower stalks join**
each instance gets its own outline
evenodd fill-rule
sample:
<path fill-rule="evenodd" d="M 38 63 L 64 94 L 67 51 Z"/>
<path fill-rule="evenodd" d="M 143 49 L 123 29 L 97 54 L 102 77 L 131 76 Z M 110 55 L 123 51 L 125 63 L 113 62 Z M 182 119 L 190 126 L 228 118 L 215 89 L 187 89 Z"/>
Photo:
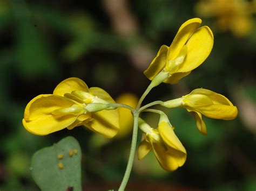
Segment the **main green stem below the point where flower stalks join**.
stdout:
<path fill-rule="evenodd" d="M 131 143 L 130 155 L 129 155 L 128 163 L 127 163 L 126 170 L 125 170 L 125 173 L 124 173 L 124 178 L 122 180 L 122 183 L 121 183 L 118 191 L 124 191 L 124 189 L 127 185 L 127 182 L 129 180 L 131 170 L 132 170 L 134 154 L 135 154 L 135 151 L 136 151 L 137 136 L 138 136 L 138 118 L 139 118 L 139 112 L 138 111 L 133 112 L 133 118 L 134 118 L 134 123 L 133 123 L 132 143 Z"/>

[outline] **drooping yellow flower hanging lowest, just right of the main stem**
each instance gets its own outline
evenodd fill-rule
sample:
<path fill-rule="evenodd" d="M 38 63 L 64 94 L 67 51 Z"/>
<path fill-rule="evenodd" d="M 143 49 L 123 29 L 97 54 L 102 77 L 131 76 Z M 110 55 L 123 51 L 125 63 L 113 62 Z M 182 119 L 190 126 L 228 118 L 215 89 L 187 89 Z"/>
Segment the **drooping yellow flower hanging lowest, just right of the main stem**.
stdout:
<path fill-rule="evenodd" d="M 167 116 L 166 116 L 167 117 Z M 186 161 L 186 150 L 175 135 L 168 119 L 161 119 L 158 129 L 151 128 L 139 118 L 139 128 L 145 133 L 138 147 L 138 159 L 143 159 L 153 148 L 160 166 L 166 171 L 175 171 Z"/>

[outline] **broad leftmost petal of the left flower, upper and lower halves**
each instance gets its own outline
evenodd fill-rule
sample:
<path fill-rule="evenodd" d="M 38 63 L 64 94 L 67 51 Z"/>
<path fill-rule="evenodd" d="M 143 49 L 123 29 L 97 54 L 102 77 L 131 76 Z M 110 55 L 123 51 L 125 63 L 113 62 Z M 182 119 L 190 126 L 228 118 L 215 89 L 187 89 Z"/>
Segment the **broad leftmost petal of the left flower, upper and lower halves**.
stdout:
<path fill-rule="evenodd" d="M 26 105 L 22 123 L 26 130 L 36 135 L 48 135 L 62 130 L 75 122 L 77 116 L 70 114 L 52 115 L 52 112 L 72 107 L 74 103 L 68 98 L 57 95 L 39 95 Z"/>

